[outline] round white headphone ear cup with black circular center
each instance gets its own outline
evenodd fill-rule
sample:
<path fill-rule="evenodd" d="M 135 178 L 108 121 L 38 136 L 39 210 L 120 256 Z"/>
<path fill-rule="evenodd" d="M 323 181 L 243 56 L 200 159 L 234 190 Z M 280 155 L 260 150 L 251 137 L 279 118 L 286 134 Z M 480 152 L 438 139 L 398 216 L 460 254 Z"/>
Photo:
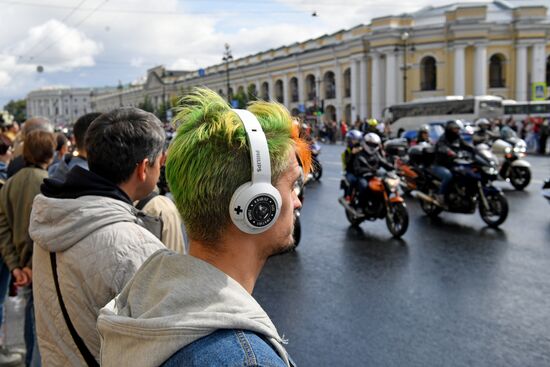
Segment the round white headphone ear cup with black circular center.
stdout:
<path fill-rule="evenodd" d="M 271 184 L 247 182 L 233 194 L 229 215 L 241 231 L 258 234 L 275 224 L 281 205 L 281 195 Z"/>

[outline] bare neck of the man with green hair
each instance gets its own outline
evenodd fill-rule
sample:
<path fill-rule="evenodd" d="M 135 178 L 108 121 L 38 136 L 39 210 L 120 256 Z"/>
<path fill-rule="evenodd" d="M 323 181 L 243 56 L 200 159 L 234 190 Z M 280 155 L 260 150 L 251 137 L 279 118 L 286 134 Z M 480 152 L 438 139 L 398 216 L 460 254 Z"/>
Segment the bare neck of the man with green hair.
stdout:
<path fill-rule="evenodd" d="M 215 266 L 252 294 L 267 260 L 261 248 L 252 236 L 234 232 L 227 233 L 224 239 L 214 245 L 191 240 L 189 255 Z"/>

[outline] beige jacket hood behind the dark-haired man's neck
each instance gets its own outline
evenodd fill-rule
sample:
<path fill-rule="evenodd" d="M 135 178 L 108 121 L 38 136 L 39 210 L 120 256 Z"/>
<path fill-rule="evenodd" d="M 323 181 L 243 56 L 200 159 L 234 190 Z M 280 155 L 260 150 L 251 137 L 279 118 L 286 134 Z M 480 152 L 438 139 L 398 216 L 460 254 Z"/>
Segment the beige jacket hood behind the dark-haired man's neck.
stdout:
<path fill-rule="evenodd" d="M 136 222 L 137 209 L 125 201 L 102 196 L 57 199 L 34 198 L 29 234 L 49 252 L 65 251 L 99 228 Z"/>

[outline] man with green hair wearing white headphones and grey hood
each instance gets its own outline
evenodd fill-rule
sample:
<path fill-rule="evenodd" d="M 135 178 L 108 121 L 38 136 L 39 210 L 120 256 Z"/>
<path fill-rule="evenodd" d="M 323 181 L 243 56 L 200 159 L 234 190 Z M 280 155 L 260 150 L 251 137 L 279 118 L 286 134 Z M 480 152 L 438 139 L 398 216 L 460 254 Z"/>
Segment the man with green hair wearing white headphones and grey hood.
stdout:
<path fill-rule="evenodd" d="M 251 294 L 266 260 L 294 244 L 294 210 L 301 206 L 294 186 L 298 161 L 310 170 L 308 145 L 282 105 L 258 101 L 248 111 L 232 110 L 208 89 L 182 99 L 176 123 L 166 173 L 189 255 L 156 252 L 102 309 L 101 365 L 291 366 L 285 341 Z M 258 130 L 267 162 L 256 149 Z M 236 197 L 256 185 L 264 168 L 274 192 L 247 201 L 267 204 L 246 204 L 245 215 L 273 214 L 269 198 L 276 196 L 278 214 L 257 231 L 233 213 L 240 215 Z"/>

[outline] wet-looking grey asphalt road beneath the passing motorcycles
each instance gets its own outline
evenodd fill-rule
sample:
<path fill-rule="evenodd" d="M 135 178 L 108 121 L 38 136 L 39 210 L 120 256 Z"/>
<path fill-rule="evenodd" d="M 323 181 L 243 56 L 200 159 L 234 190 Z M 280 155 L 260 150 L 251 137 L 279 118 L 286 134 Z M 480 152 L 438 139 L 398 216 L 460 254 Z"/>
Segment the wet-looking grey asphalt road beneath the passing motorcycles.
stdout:
<path fill-rule="evenodd" d="M 550 157 L 528 157 L 523 192 L 502 182 L 500 230 L 479 214 L 432 220 L 406 198 L 410 226 L 351 228 L 341 195 L 341 145 L 325 145 L 309 185 L 302 241 L 270 259 L 254 296 L 299 366 L 550 366 Z"/>

